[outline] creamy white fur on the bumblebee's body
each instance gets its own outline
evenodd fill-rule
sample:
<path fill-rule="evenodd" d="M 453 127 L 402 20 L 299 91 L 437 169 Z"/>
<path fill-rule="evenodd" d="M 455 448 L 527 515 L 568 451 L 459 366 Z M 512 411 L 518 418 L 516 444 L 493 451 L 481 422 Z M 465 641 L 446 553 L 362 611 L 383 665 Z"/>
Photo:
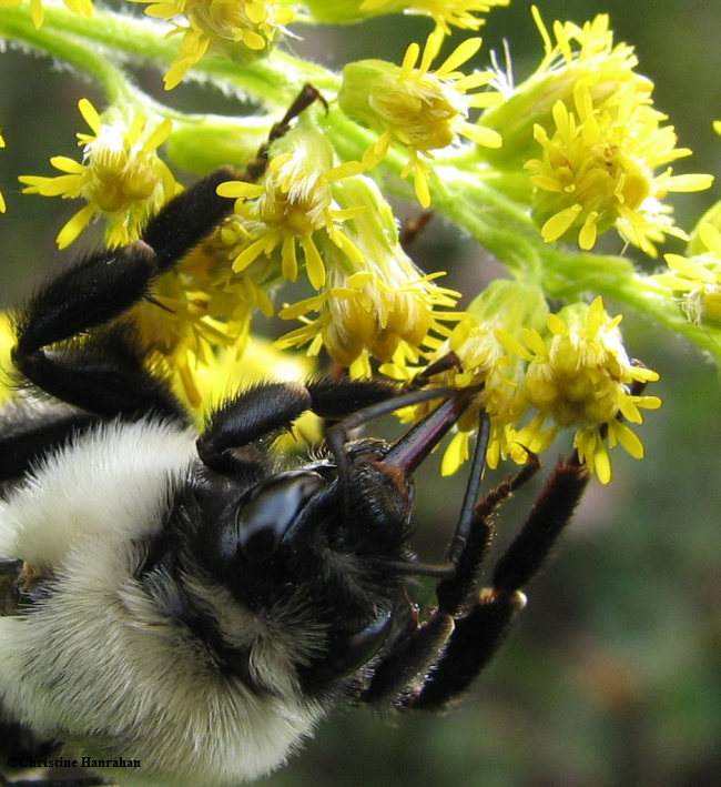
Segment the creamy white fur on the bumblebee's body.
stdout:
<path fill-rule="evenodd" d="M 319 643 L 282 617 L 258 632 L 227 592 L 189 582 L 220 629 L 251 649 L 258 693 L 174 622 L 167 577 L 165 587 L 139 581 L 195 437 L 153 420 L 100 424 L 0 503 L 0 554 L 51 575 L 31 615 L 0 618 L 0 684 L 6 712 L 40 736 L 65 729 L 68 750 L 132 756 L 185 784 L 233 784 L 277 766 L 321 717 L 288 668 L 290 654 Z M 283 614 L 302 616 L 302 598 Z"/>

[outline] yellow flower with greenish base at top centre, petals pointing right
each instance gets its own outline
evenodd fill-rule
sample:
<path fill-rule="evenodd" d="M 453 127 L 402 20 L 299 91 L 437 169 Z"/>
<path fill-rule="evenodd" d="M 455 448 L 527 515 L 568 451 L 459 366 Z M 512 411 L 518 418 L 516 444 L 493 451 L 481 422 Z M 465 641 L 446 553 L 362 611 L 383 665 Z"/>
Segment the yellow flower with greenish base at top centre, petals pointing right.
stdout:
<path fill-rule="evenodd" d="M 492 92 L 469 92 L 486 85 L 492 73 L 465 75 L 457 70 L 478 51 L 480 39 L 466 39 L 431 71 L 443 37 L 443 29 L 436 28 L 426 40 L 423 54 L 420 47 L 412 43 L 400 67 L 383 60 L 348 63 L 343 69 L 338 94 L 339 104 L 349 117 L 380 133 L 365 152 L 364 165 L 370 169 L 378 164 L 390 144 L 404 145 L 410 158 L 400 176 L 413 174 L 416 196 L 424 206 L 430 204 L 430 192 L 428 168 L 422 157 L 431 159 L 433 151 L 447 148 L 459 137 L 491 148 L 501 143 L 496 131 L 468 121 L 471 108 L 489 107 L 499 99 Z"/>

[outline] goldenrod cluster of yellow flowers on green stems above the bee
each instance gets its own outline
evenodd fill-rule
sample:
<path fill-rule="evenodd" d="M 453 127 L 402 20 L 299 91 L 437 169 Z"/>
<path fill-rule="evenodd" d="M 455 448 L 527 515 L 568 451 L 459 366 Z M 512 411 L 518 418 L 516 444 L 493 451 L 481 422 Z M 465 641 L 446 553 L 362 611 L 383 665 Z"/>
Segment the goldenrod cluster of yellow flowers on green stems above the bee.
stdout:
<path fill-rule="evenodd" d="M 129 1 L 143 2 L 146 16 L 115 14 L 113 23 L 146 36 L 149 58 L 167 69 L 166 90 L 189 78 L 217 79 L 262 113 L 245 120 L 171 110 L 128 88 L 109 57 L 101 79 L 113 100 L 100 111 L 80 102 L 90 127 L 78 134 L 80 157 L 53 157 L 60 174 L 21 181 L 28 193 L 83 201 L 58 234 L 61 248 L 95 219 L 110 245 L 124 244 L 182 189 L 166 160 L 190 162 L 200 174 L 221 163 L 242 169 L 245 160 L 229 161 L 233 151 L 256 150 L 271 134 L 254 182 L 220 185 L 230 215 L 123 317 L 192 406 L 205 406 L 219 375 L 232 376 L 251 347 L 264 346 L 253 332 L 260 311 L 294 322 L 274 353 L 295 359 L 302 349 L 305 364 L 326 353 L 353 376 L 410 381 L 451 353 L 456 364 L 433 383 L 476 394 L 444 472 L 468 454 L 479 411 L 490 420 L 490 466 L 542 452 L 562 430 L 603 483 L 609 448 L 642 456 L 632 425 L 659 406 L 642 393 L 658 375 L 629 360 L 620 316 L 607 314 L 598 293 L 622 301 L 638 285 L 644 294 L 637 305 L 659 309 L 662 294 L 662 309 L 681 300 L 693 321 L 719 321 L 721 232 L 712 221 L 700 225 L 688 256 L 666 254 L 669 270 L 653 278 L 637 276 L 630 262 L 622 281 L 603 276 L 603 259 L 591 253 L 603 233 L 615 230 L 656 256 L 667 236 L 689 239 L 668 195 L 711 183 L 674 171 L 691 151 L 678 147 L 653 104 L 653 83 L 638 72 L 633 49 L 615 41 L 607 16 L 547 28 L 534 9 L 544 54 L 512 84 L 497 65 L 478 64 L 476 34 L 483 14 L 508 0 L 309 0 L 304 8 L 290 0 Z M 93 12 L 90 0 L 65 4 Z M 41 24 L 42 3 L 30 8 Z M 363 59 L 334 72 L 280 47 L 291 24 L 295 34 L 312 21 L 349 24 L 397 12 L 433 26 L 398 64 Z M 92 19 L 99 14 L 111 12 L 97 8 Z M 153 50 L 159 31 L 163 44 Z M 172 56 L 169 42 L 177 42 Z M 271 132 L 299 85 L 315 78 L 323 101 Z M 461 311 L 461 294 L 443 286 L 443 274 L 413 262 L 389 193 L 433 204 L 507 263 L 514 280 L 464 293 L 471 303 Z M 551 312 L 557 301 L 566 305 Z"/>

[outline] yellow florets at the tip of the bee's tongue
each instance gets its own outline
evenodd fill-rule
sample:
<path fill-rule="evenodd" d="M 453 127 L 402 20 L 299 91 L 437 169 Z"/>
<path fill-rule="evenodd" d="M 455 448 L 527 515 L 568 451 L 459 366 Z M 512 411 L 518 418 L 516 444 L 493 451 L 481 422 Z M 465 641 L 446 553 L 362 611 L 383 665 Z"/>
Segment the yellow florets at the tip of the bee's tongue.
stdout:
<path fill-rule="evenodd" d="M 477 389 L 454 428 L 444 474 L 468 458 L 479 411 L 490 424 L 489 467 L 502 458 L 525 463 L 529 451 L 542 453 L 562 430 L 573 431 L 579 461 L 602 483 L 611 478 L 608 447 L 620 443 L 631 456 L 643 456 L 643 445 L 627 423 L 640 424 L 641 410 L 660 407 L 657 396 L 641 394 L 659 375 L 629 360 L 618 329 L 621 317 L 609 317 L 600 297 L 554 314 L 535 285 L 496 281 L 469 313 L 429 359 L 450 353 L 455 360 L 448 371 L 434 375 L 434 384 Z M 384 371 L 410 380 L 423 370 Z M 426 408 L 416 407 L 413 417 L 422 417 Z"/>

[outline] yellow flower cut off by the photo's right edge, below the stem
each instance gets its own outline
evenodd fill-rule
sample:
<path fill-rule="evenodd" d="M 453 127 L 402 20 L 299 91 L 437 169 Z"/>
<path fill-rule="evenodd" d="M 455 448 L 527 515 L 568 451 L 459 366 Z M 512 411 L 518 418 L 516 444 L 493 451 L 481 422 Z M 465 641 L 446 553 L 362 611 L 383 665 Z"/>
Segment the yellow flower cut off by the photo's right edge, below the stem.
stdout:
<path fill-rule="evenodd" d="M 700 254 L 664 254 L 670 271 L 653 280 L 681 295 L 681 307 L 691 322 L 721 322 L 721 232 L 713 224 L 698 230 Z"/>

